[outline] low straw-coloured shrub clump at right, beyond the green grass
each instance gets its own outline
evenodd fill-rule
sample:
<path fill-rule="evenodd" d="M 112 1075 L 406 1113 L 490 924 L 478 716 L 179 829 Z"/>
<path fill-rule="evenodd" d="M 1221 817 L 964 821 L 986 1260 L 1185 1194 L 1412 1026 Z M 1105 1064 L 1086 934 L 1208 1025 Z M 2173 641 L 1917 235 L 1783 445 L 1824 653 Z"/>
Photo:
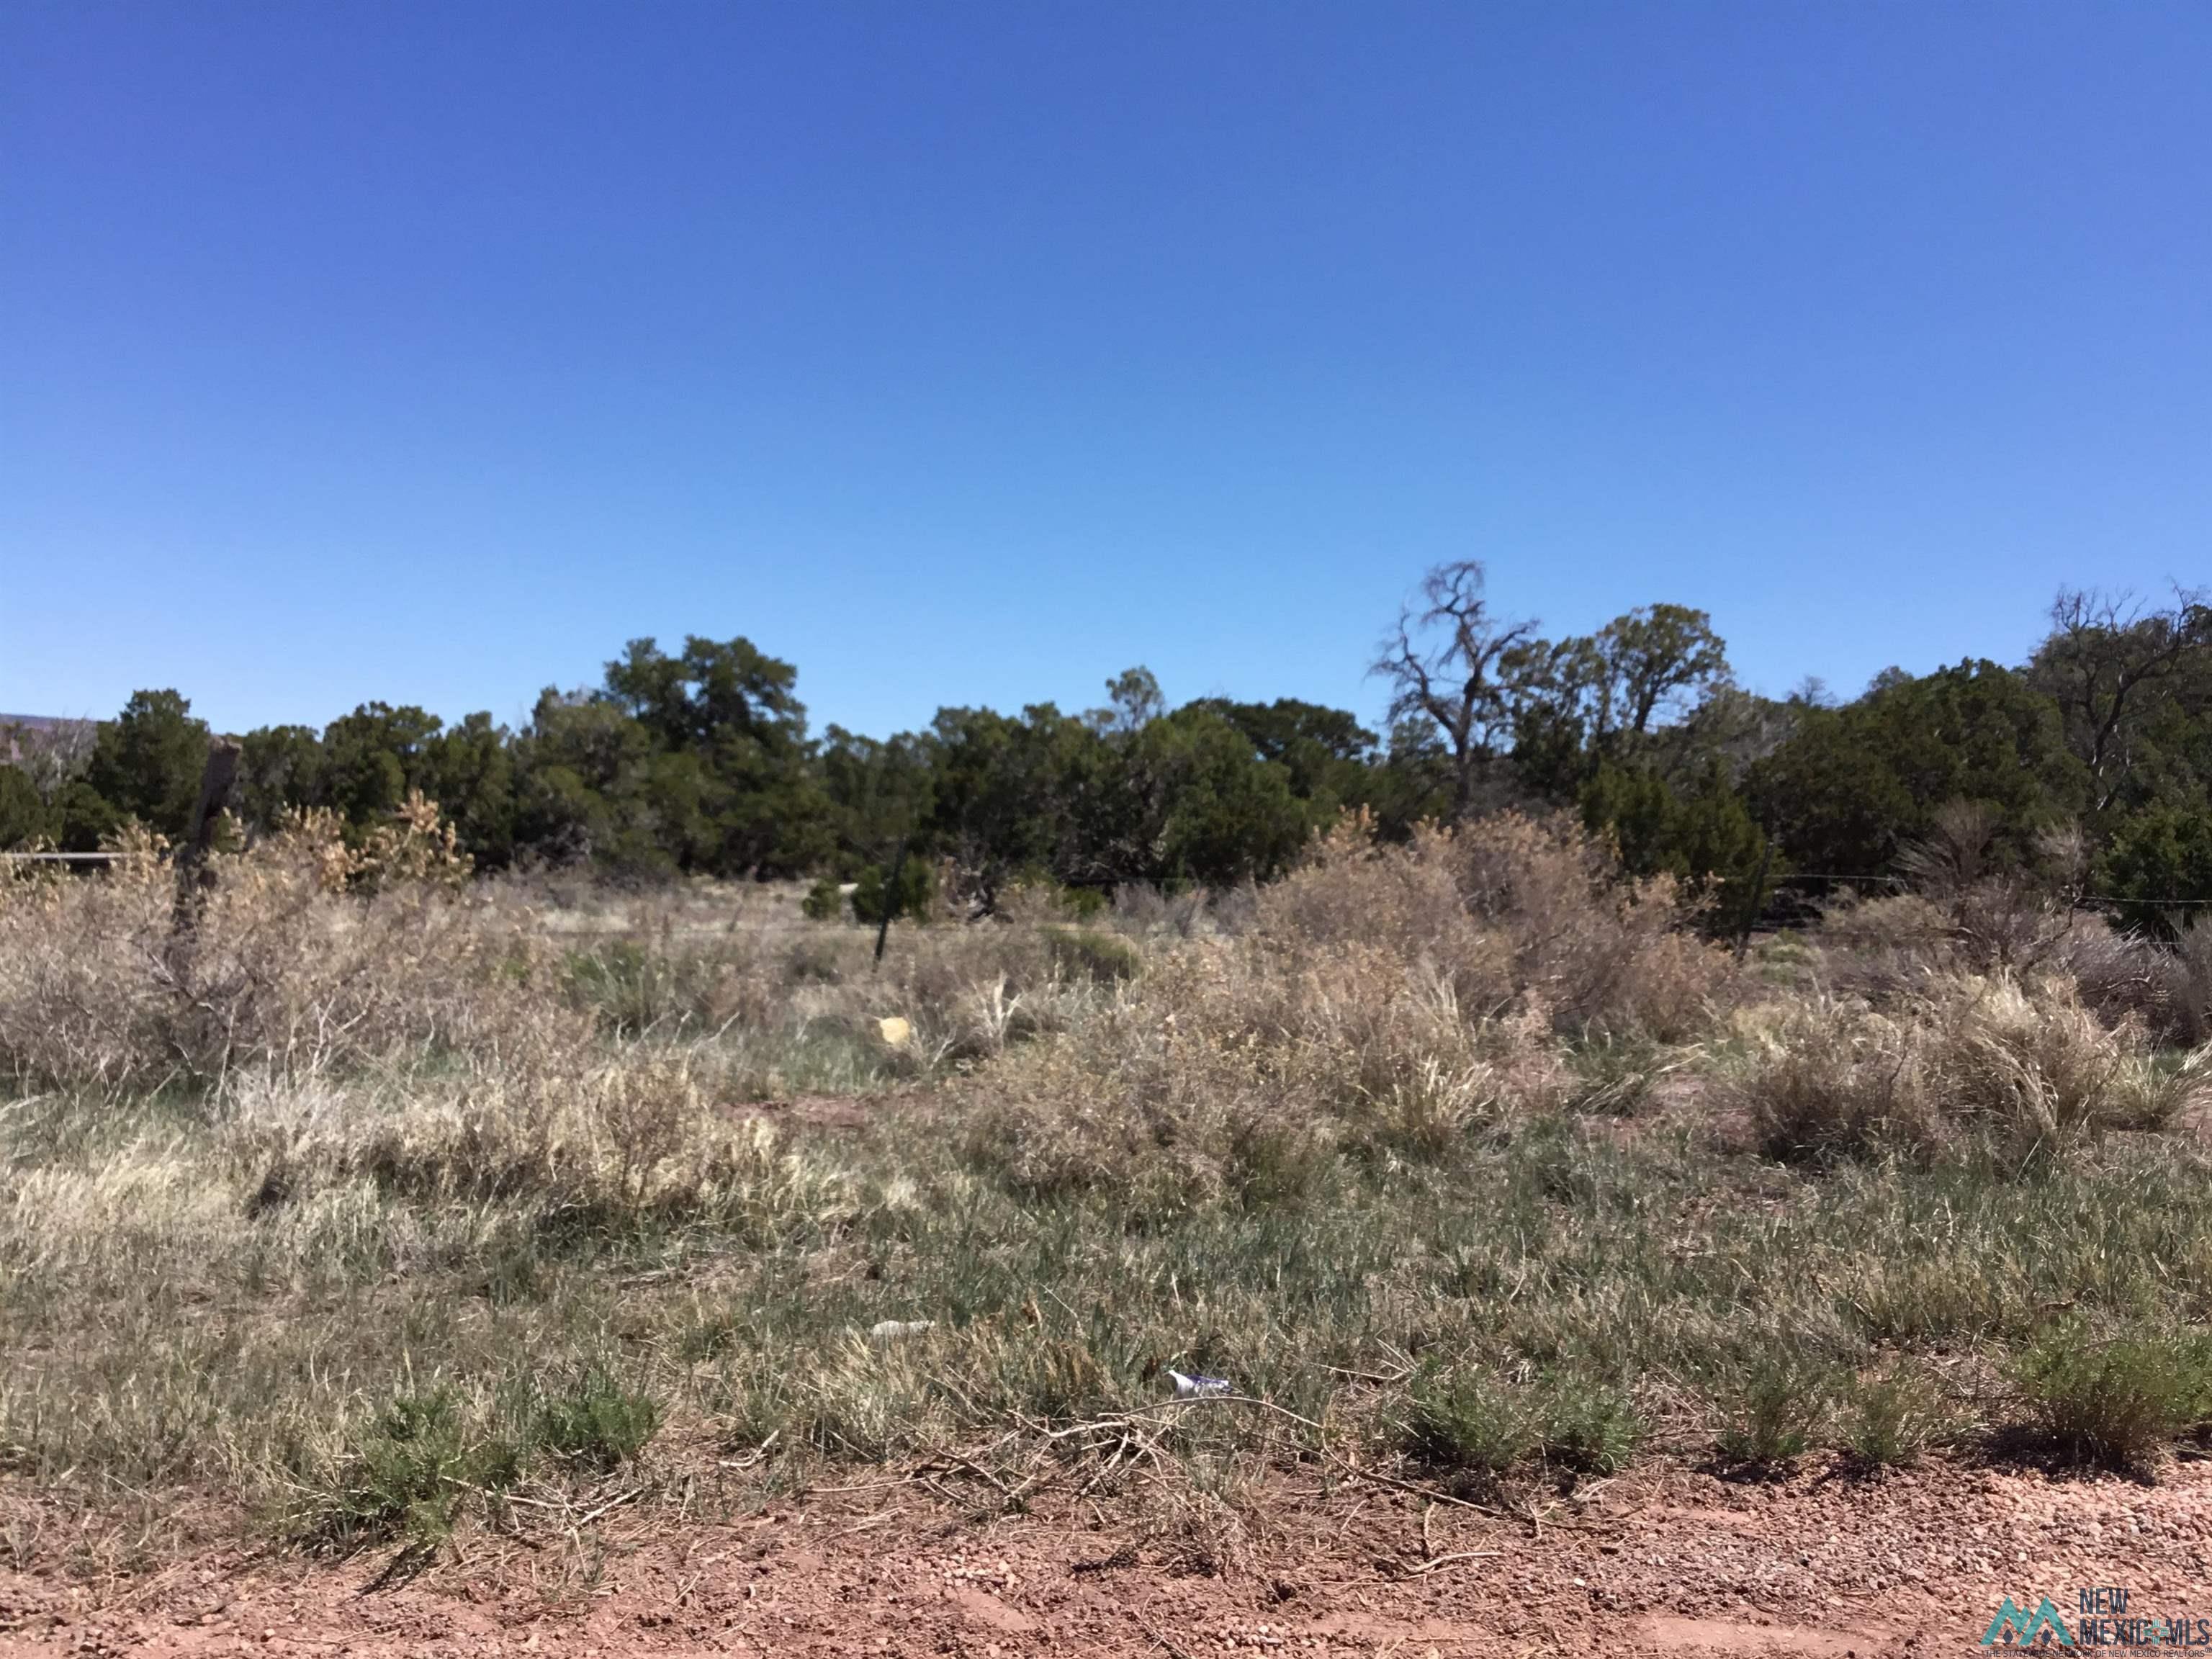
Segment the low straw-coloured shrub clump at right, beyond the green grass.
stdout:
<path fill-rule="evenodd" d="M 2006 1155 L 2115 1128 L 2161 1128 L 2203 1086 L 2141 1026 L 2101 1024 L 2064 978 L 1947 975 L 1893 1006 L 1823 995 L 1765 1011 L 1723 1082 L 1774 1157 Z"/>

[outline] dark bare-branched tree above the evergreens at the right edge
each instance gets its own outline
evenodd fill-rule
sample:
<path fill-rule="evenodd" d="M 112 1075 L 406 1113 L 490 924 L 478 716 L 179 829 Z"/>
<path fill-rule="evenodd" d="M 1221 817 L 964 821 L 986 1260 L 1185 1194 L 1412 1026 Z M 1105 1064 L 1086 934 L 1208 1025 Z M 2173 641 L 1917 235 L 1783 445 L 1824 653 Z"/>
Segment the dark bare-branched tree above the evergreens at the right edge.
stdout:
<path fill-rule="evenodd" d="M 2066 741 L 2110 807 L 2135 770 L 2148 703 L 2177 679 L 2192 653 L 2212 648 L 2212 604 L 2174 588 L 2174 604 L 2146 608 L 2130 593 L 2059 588 L 2051 637 L 2031 672 L 2066 714 Z"/>

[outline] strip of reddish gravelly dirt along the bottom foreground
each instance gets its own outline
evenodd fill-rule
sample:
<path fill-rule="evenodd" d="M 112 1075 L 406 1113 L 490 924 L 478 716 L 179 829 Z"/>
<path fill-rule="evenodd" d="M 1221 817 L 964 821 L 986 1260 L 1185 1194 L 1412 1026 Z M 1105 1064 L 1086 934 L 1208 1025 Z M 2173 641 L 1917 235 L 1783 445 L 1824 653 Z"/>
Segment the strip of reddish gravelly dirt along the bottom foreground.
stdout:
<path fill-rule="evenodd" d="M 139 1582 L 0 1573 L 0 1655 L 1820 1655 L 1980 1652 L 2004 1597 L 2075 1621 L 2212 1619 L 2212 1464 L 2161 1484 L 1936 1464 L 1739 1486 L 1683 1471 L 1504 1520 L 1276 1482 L 1203 1540 L 1088 1502 L 971 1520 L 911 1482 L 730 1524 L 617 1509 L 531 1546 L 478 1533 L 396 1588 L 387 1562 L 241 1553 Z M 1217 1537 L 1219 1546 L 1221 1540 Z M 597 1562 L 593 1571 L 593 1562 Z"/>

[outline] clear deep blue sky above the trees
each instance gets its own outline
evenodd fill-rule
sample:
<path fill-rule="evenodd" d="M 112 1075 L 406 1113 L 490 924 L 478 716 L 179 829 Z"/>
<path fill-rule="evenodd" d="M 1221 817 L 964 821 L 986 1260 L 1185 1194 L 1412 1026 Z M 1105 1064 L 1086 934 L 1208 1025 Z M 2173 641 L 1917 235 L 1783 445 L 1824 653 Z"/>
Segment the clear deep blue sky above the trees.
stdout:
<path fill-rule="evenodd" d="M 2212 7 L 0 9 L 0 708 L 1374 712 L 1467 555 L 1770 692 L 2212 575 Z"/>

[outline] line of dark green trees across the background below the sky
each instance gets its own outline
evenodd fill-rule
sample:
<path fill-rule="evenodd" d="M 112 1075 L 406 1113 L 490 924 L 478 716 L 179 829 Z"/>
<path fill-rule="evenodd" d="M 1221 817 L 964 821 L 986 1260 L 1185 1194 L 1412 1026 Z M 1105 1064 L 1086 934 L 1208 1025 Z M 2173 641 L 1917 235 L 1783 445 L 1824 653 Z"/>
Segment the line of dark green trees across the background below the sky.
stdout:
<path fill-rule="evenodd" d="M 1274 699 L 1168 708 L 1130 668 L 1082 712 L 942 708 L 920 732 L 814 734 L 799 670 L 748 639 L 633 639 L 602 684 L 540 695 L 509 730 L 363 703 L 246 732 L 243 834 L 323 807 L 356 834 L 409 792 L 478 867 L 615 878 L 827 876 L 876 891 L 900 854 L 989 909 L 1022 880 L 1223 887 L 1281 874 L 1345 812 L 1380 836 L 1506 807 L 1566 810 L 1632 874 L 1750 900 L 1761 872 L 1891 876 L 1955 803 L 1995 872 L 2064 878 L 2168 927 L 2212 900 L 2212 608 L 2066 591 L 2028 661 L 1885 670 L 1856 699 L 1759 697 L 1703 611 L 1639 606 L 1548 639 L 1500 617 L 1482 566 L 1438 566 L 1374 664 L 1383 730 Z M 93 728 L 0 734 L 0 847 L 93 849 L 139 821 L 179 834 L 210 732 L 175 690 Z M 874 885 L 872 885 L 874 883 Z"/>

